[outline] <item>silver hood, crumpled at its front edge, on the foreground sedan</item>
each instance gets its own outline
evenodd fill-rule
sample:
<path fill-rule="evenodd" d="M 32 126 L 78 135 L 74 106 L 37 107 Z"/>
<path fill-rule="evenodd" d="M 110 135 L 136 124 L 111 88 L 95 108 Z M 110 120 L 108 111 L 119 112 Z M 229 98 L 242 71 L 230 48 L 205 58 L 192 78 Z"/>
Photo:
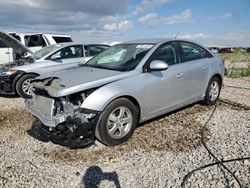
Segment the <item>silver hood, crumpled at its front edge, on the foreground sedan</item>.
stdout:
<path fill-rule="evenodd" d="M 120 72 L 100 68 L 78 67 L 37 77 L 34 88 L 46 90 L 52 97 L 62 97 L 96 88 L 117 80 L 137 75 L 137 71 Z"/>

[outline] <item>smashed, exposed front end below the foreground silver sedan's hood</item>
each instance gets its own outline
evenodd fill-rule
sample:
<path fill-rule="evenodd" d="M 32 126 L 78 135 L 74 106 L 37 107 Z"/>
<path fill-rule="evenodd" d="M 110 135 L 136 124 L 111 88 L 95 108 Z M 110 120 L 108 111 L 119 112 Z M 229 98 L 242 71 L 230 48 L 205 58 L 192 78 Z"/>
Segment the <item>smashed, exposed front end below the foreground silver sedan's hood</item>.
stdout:
<path fill-rule="evenodd" d="M 93 144 L 100 112 L 81 108 L 90 92 L 51 98 L 46 90 L 35 87 L 33 99 L 27 99 L 25 103 L 39 120 L 28 133 L 41 141 L 69 148 L 84 148 Z"/>

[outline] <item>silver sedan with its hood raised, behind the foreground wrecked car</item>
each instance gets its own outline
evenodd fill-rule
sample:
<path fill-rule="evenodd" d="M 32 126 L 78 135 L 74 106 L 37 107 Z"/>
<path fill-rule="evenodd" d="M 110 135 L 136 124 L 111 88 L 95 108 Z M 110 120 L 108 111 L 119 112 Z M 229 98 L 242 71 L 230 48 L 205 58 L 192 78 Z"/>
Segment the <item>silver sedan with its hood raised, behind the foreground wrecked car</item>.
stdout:
<path fill-rule="evenodd" d="M 67 42 L 47 46 L 33 53 L 4 33 L 0 33 L 1 38 L 22 56 L 19 60 L 0 66 L 0 94 L 17 94 L 23 98 L 31 97 L 30 80 L 33 78 L 48 72 L 77 67 L 109 48 L 102 44 Z"/>

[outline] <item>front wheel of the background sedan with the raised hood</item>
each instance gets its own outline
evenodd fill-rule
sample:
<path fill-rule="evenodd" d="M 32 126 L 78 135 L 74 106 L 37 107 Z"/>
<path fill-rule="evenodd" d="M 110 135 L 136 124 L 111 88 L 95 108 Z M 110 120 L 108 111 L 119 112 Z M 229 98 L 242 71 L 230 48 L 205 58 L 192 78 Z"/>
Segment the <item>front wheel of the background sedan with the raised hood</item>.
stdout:
<path fill-rule="evenodd" d="M 30 81 L 37 77 L 35 74 L 25 74 L 16 83 L 16 92 L 25 99 L 32 98 Z"/>

